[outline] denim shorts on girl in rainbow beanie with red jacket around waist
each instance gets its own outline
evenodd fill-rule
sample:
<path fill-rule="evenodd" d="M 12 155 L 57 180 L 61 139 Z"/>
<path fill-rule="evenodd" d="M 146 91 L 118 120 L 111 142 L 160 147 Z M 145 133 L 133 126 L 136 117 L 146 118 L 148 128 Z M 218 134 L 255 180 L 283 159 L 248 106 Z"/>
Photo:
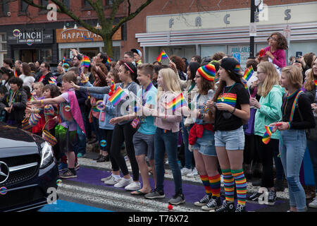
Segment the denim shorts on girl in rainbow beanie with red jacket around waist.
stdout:
<path fill-rule="evenodd" d="M 213 133 L 213 131 L 205 129 L 203 136 L 201 138 L 197 138 L 196 143 L 192 145 L 192 149 L 198 149 L 201 155 L 217 156 L 214 135 L 215 133 Z"/>

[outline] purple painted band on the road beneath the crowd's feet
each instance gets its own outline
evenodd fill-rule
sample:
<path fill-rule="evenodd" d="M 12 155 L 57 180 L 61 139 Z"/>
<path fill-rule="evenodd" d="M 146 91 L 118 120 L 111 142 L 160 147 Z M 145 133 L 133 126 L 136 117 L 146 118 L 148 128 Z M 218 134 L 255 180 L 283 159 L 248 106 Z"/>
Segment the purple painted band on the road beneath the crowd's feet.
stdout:
<path fill-rule="evenodd" d="M 94 184 L 95 186 L 103 186 L 103 187 L 109 186 L 114 188 L 111 185 L 106 185 L 104 184 L 104 182 L 101 182 L 101 178 L 108 177 L 110 176 L 110 174 L 111 172 L 107 170 L 80 167 L 80 169 L 77 171 L 77 178 L 68 179 L 68 180 L 73 182 L 81 182 L 85 184 Z M 142 184 L 142 177 L 139 177 L 139 182 L 141 182 Z M 151 184 L 151 187 L 154 188 L 154 179 L 152 179 L 151 177 L 150 177 L 150 184 Z M 124 188 L 114 188 L 114 189 L 118 189 L 118 190 L 120 189 L 122 191 L 125 191 Z M 166 194 L 167 198 L 170 198 L 175 194 L 174 189 L 175 189 L 174 182 L 166 179 L 164 181 L 164 193 Z M 182 191 L 187 203 L 194 203 L 195 201 L 198 201 L 200 198 L 204 197 L 205 195 L 204 186 L 187 184 L 184 181 L 182 181 Z M 130 191 L 127 191 L 127 192 L 130 192 Z M 285 203 L 285 202 L 276 201 L 275 205 L 279 205 L 280 203 Z M 266 208 L 266 207 L 268 206 L 247 203 L 247 211 L 255 211 L 255 210 L 259 210 L 260 208 Z"/>

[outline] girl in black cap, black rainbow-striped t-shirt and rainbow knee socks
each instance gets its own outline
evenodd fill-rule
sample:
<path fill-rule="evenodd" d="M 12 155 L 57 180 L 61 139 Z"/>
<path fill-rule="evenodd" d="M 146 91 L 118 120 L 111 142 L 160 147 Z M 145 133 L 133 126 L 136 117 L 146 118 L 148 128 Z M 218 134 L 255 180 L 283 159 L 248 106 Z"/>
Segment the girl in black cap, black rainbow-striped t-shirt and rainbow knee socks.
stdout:
<path fill-rule="evenodd" d="M 244 131 L 242 125 L 249 120 L 249 94 L 241 81 L 240 63 L 234 58 L 221 60 L 218 71 L 220 83 L 207 107 L 216 114 L 214 129 L 216 153 L 223 172 L 225 201 L 214 212 L 245 212 L 247 180 L 242 169 Z M 237 208 L 234 193 L 237 187 Z"/>

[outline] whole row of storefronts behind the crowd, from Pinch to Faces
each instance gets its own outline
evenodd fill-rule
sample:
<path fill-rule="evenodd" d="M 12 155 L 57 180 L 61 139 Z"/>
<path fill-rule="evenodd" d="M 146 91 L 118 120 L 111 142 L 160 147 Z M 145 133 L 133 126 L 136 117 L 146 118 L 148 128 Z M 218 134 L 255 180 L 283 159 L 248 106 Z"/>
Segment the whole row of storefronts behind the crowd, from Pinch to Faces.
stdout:
<path fill-rule="evenodd" d="M 47 4 L 47 1 L 42 2 Z M 64 2 L 71 6 L 77 16 L 92 25 L 97 25 L 97 16 L 94 15 L 94 11 L 90 11 L 91 8 L 86 1 Z M 111 8 L 111 2 L 104 0 L 105 11 Z M 131 11 L 135 11 L 144 0 L 131 2 Z M 268 35 L 278 31 L 285 35 L 290 34 L 288 57 L 295 52 L 316 52 L 316 9 L 317 2 L 311 0 L 264 0 L 264 5 L 259 7 L 259 22 L 256 23 L 256 51 L 267 45 Z M 75 26 L 74 21 L 66 15 L 58 15 L 56 22 L 49 22 L 46 12 L 38 8 L 29 6 L 29 16 L 23 11 L 25 4 L 20 0 L 11 2 L 9 6 L 0 6 L 0 44 L 7 49 L 8 57 L 57 61 L 63 56 L 69 57 L 70 47 L 75 47 L 88 55 L 102 50 L 103 42 L 97 38 L 89 38 L 87 33 L 85 40 L 76 40 L 75 37 L 61 40 L 58 35 L 64 32 L 64 28 L 69 29 L 66 32 L 72 32 L 70 29 L 74 29 Z M 11 16 L 7 16 L 7 12 L 11 12 Z M 118 12 L 118 18 L 126 13 L 127 7 L 123 4 Z M 187 59 L 195 54 L 208 57 L 214 52 L 222 51 L 240 59 L 243 66 L 249 57 L 249 21 L 249 0 L 154 0 L 139 15 L 128 21 L 121 28 L 120 34 L 116 35 L 116 40 L 113 40 L 114 59 L 119 59 L 131 48 L 143 52 L 144 62 L 154 61 L 162 49 L 166 50 L 168 55 L 176 54 Z M 16 42 L 12 37 L 14 29 L 26 32 L 44 30 L 46 40 L 30 46 L 25 43 L 13 44 Z M 73 37 L 72 35 L 70 37 Z M 10 37 L 14 41 L 9 40 Z M 25 57 L 27 54 L 29 57 Z M 0 65 L 1 63 L 0 49 Z"/>

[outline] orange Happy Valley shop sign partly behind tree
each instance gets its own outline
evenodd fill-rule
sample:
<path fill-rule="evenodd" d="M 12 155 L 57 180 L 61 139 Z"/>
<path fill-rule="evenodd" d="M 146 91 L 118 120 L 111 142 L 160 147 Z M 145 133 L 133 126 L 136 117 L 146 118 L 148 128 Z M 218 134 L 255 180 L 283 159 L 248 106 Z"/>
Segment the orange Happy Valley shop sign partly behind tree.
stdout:
<path fill-rule="evenodd" d="M 112 40 L 121 40 L 121 28 Z M 85 28 L 56 29 L 56 42 L 102 42 L 102 37 Z"/>

